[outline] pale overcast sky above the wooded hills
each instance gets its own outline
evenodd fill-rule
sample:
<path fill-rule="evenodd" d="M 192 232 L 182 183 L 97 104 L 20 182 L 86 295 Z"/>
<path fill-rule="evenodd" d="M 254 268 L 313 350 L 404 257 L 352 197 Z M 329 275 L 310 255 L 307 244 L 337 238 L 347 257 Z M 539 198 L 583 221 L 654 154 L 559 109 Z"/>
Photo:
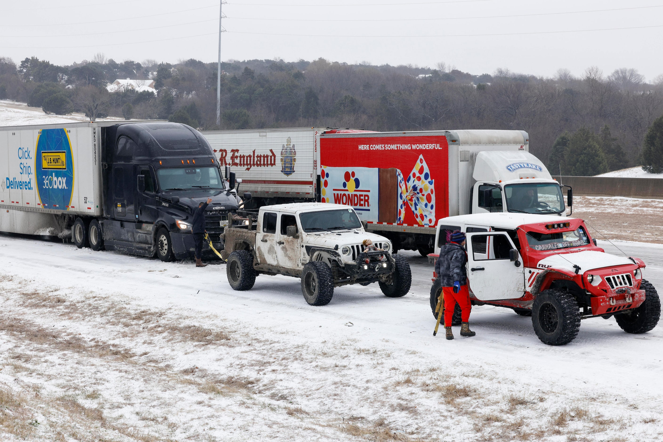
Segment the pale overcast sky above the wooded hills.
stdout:
<path fill-rule="evenodd" d="M 0 56 L 55 64 L 96 52 L 117 62 L 217 60 L 218 1 L 85 3 L 0 0 Z M 663 0 L 228 0 L 223 13 L 222 60 L 446 62 L 472 74 L 508 68 L 539 76 L 596 65 L 606 75 L 622 67 L 647 80 L 663 74 Z"/>

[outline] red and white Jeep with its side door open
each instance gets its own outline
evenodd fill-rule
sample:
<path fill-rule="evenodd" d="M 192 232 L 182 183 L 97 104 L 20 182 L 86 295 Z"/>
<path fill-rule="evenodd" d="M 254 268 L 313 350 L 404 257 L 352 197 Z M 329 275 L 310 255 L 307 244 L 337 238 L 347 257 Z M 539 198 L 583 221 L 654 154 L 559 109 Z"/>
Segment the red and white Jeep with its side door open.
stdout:
<path fill-rule="evenodd" d="M 467 235 L 467 278 L 473 305 L 498 305 L 532 316 L 539 339 L 562 345 L 575 339 L 580 320 L 614 316 L 627 333 L 656 327 L 660 300 L 642 279 L 639 258 L 597 247 L 581 219 L 520 213 L 477 213 L 438 221 L 435 253 L 453 231 Z M 442 288 L 433 274 L 430 306 Z M 456 305 L 453 325 L 460 323 Z"/>

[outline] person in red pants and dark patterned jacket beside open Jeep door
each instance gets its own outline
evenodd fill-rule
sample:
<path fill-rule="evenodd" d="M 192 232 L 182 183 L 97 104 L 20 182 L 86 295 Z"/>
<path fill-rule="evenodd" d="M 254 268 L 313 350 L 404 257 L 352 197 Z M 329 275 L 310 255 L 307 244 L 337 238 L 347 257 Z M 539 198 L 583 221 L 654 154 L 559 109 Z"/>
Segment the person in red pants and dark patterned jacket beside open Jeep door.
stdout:
<path fill-rule="evenodd" d="M 455 304 L 461 308 L 462 325 L 461 336 L 474 336 L 475 332 L 469 329 L 469 312 L 472 305 L 469 302 L 467 288 L 467 252 L 464 249 L 465 234 L 455 231 L 451 235 L 451 242 L 442 246 L 440 258 L 435 263 L 435 271 L 440 278 L 442 294 L 444 294 L 444 329 L 446 338 L 453 339 L 452 316 Z"/>

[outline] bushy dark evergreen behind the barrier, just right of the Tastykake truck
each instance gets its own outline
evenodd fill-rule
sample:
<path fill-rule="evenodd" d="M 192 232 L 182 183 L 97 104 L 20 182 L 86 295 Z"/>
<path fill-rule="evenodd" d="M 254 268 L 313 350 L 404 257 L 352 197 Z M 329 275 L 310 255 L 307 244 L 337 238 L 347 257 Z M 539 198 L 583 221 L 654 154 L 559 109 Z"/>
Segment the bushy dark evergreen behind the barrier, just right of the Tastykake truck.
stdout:
<path fill-rule="evenodd" d="M 594 176 L 607 172 L 607 161 L 599 142 L 599 137 L 586 127 L 581 127 L 569 138 L 564 162 L 572 176 Z"/>

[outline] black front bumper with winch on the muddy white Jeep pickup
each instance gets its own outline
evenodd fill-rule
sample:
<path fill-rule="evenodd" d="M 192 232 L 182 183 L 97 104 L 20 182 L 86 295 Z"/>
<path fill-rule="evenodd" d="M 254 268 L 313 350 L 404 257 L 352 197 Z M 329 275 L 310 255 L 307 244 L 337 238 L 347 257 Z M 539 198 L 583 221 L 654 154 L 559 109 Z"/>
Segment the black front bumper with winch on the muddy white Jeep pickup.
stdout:
<path fill-rule="evenodd" d="M 334 280 L 341 284 L 361 284 L 387 280 L 396 268 L 396 261 L 389 252 L 376 250 L 361 252 L 357 259 L 345 262 L 345 266 L 334 267 Z"/>

